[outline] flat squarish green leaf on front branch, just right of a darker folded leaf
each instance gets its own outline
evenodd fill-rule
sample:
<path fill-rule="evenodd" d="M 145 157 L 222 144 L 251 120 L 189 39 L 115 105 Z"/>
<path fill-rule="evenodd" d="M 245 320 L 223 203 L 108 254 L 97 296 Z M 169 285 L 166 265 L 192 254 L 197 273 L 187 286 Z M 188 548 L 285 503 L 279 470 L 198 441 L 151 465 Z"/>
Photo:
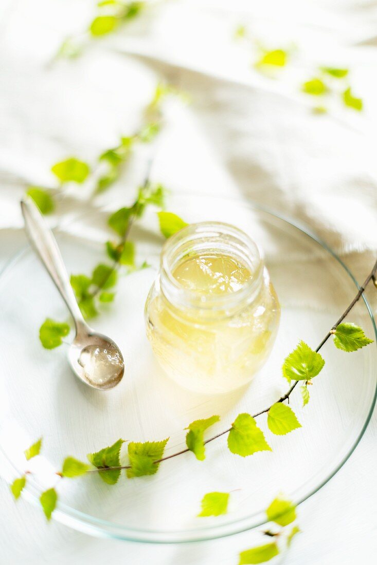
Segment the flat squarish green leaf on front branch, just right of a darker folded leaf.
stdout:
<path fill-rule="evenodd" d="M 142 477 L 144 475 L 155 475 L 159 464 L 154 463 L 164 455 L 165 445 L 169 438 L 162 441 L 145 441 L 136 443 L 131 441 L 128 444 L 128 457 L 130 458 L 131 468 L 127 469 L 127 477 Z"/>

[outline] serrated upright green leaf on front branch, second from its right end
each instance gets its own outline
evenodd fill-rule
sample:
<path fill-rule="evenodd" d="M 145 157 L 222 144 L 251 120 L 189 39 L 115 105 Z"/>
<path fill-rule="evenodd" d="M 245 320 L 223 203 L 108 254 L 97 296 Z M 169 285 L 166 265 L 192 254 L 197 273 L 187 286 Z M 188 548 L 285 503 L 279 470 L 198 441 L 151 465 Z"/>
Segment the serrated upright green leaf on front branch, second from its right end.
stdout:
<path fill-rule="evenodd" d="M 309 381 L 322 371 L 323 366 L 323 357 L 300 341 L 296 349 L 285 358 L 282 372 L 289 383 L 291 380 Z"/>

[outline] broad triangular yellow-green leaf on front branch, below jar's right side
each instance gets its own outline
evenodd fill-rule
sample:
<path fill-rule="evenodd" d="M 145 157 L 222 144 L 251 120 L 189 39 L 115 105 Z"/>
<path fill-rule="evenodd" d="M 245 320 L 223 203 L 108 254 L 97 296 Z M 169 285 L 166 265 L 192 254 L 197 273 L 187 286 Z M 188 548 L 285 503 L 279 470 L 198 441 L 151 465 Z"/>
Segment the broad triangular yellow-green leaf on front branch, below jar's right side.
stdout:
<path fill-rule="evenodd" d="M 239 414 L 228 435 L 228 447 L 232 453 L 246 457 L 256 451 L 272 451 L 264 434 L 250 414 Z"/>

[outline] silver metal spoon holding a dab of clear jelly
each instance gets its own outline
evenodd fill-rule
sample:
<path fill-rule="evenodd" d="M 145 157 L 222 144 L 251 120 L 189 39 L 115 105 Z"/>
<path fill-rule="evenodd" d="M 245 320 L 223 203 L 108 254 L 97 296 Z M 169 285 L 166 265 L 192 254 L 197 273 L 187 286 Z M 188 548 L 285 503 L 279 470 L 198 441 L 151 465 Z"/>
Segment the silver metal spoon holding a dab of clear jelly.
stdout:
<path fill-rule="evenodd" d="M 109 337 L 89 328 L 76 302 L 62 255 L 52 231 L 31 198 L 21 202 L 25 231 L 36 253 L 65 301 L 75 323 L 76 336 L 68 351 L 75 375 L 98 390 L 110 390 L 122 380 L 125 363 Z"/>

